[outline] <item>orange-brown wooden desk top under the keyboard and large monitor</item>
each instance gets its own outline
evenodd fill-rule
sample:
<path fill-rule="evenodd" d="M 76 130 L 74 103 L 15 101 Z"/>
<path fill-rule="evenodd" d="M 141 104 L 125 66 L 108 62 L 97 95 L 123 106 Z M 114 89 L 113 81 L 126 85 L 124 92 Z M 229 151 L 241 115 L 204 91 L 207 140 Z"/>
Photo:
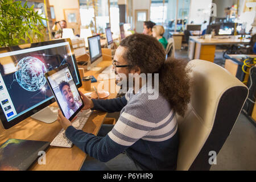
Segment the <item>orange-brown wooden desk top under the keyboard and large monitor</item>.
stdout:
<path fill-rule="evenodd" d="M 106 67 L 112 64 L 112 61 L 102 61 L 97 67 Z M 94 75 L 97 78 L 97 74 L 93 71 L 85 72 L 85 76 Z M 99 83 L 92 83 L 93 86 L 97 86 Z M 85 90 L 80 88 L 82 93 Z M 109 90 L 107 90 L 109 91 Z M 109 98 L 115 98 L 116 93 L 110 94 Z M 56 102 L 51 106 L 57 107 Z M 100 127 L 106 117 L 107 113 L 102 111 L 94 111 L 88 121 L 83 127 L 83 131 L 98 134 Z M 5 142 L 9 138 L 15 139 L 28 139 L 28 140 L 42 140 L 51 142 L 53 138 L 61 130 L 59 122 L 53 122 L 51 124 L 36 121 L 32 118 L 27 118 L 24 121 L 18 123 L 9 130 L 0 129 L 0 143 Z M 81 168 L 82 163 L 86 158 L 86 154 L 82 152 L 78 147 L 73 145 L 72 148 L 52 147 L 46 151 L 46 165 L 39 165 L 35 162 L 29 170 L 70 170 L 77 171 Z"/>

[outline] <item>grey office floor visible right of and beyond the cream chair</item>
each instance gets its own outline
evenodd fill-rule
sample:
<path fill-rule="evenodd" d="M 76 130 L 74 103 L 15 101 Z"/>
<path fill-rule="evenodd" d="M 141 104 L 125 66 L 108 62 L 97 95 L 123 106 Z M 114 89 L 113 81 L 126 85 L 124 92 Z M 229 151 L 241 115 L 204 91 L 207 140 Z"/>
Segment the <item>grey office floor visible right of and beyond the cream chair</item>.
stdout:
<path fill-rule="evenodd" d="M 175 51 L 176 57 L 187 59 L 187 51 Z M 222 57 L 223 50 L 216 50 L 214 63 L 224 67 L 225 60 Z M 256 127 L 240 114 L 232 133 L 226 139 L 224 146 L 217 155 L 217 164 L 213 165 L 211 171 L 226 170 L 256 170 Z"/>

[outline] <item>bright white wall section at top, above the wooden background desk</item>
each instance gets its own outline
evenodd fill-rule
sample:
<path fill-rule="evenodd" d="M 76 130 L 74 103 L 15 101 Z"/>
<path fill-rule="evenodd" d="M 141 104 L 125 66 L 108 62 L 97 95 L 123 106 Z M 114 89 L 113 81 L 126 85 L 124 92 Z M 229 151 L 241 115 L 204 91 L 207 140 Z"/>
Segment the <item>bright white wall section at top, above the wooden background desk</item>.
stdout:
<path fill-rule="evenodd" d="M 203 12 L 204 10 L 210 10 L 210 3 L 212 3 L 212 0 L 191 0 L 188 23 L 193 21 L 194 24 L 202 24 L 204 20 L 209 23 L 209 13 Z"/>

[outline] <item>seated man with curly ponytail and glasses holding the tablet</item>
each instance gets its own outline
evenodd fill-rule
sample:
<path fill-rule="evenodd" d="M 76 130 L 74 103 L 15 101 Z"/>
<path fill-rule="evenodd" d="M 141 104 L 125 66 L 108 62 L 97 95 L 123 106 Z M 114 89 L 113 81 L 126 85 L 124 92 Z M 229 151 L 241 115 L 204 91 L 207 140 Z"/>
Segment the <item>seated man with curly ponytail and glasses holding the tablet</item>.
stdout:
<path fill-rule="evenodd" d="M 158 85 L 159 94 L 150 99 L 155 87 L 143 81 L 139 85 L 130 84 L 121 98 L 90 100 L 81 93 L 84 109 L 121 111 L 117 123 L 102 126 L 98 136 L 76 130 L 59 112 L 58 121 L 66 130 L 66 137 L 95 158 L 85 161 L 81 169 L 175 170 L 179 146 L 176 113 L 183 116 L 190 101 L 187 61 L 166 60 L 158 40 L 134 34 L 122 40 L 117 48 L 113 68 L 117 75 L 129 79 L 134 79 L 129 75 L 158 75 L 159 80 L 151 80 L 154 86 Z M 137 86 L 139 90 L 135 89 Z"/>

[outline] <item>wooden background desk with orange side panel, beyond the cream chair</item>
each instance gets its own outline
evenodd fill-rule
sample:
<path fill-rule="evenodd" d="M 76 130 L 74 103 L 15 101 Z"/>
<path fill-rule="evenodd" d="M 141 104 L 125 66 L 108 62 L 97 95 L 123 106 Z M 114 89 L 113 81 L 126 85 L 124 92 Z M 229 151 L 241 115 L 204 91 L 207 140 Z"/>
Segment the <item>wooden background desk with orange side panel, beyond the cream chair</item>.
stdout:
<path fill-rule="evenodd" d="M 201 59 L 214 61 L 216 45 L 249 44 L 250 39 L 240 40 L 234 36 L 229 39 L 222 39 L 221 36 L 212 39 L 203 39 L 199 36 L 189 36 L 188 57 L 189 59 Z"/>

